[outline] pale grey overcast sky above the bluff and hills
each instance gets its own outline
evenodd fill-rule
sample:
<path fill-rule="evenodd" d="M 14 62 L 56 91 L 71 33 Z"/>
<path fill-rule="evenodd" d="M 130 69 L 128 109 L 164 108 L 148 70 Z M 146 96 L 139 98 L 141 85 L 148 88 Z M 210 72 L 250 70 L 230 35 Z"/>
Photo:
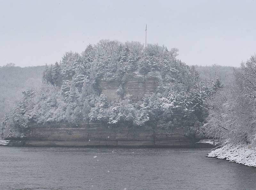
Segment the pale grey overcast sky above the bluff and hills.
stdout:
<path fill-rule="evenodd" d="M 0 66 L 36 66 L 100 39 L 180 49 L 188 65 L 239 66 L 256 53 L 252 0 L 0 0 Z"/>

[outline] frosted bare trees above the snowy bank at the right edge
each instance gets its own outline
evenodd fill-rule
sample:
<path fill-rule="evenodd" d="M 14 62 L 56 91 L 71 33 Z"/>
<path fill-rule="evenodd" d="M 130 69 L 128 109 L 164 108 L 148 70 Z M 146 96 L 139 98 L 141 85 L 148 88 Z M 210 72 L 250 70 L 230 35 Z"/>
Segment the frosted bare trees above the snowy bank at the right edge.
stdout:
<path fill-rule="evenodd" d="M 234 143 L 256 140 L 256 56 L 234 71 L 234 80 L 212 99 L 206 129 L 209 135 Z"/>

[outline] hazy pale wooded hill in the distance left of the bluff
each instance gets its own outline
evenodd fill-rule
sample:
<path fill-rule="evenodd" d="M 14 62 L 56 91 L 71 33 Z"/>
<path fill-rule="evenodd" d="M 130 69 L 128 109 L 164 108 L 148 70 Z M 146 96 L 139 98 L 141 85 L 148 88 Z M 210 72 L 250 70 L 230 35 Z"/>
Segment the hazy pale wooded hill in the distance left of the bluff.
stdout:
<path fill-rule="evenodd" d="M 41 86 L 44 68 L 45 66 L 21 68 L 12 64 L 0 67 L 0 118 L 20 101 L 22 91 Z"/>

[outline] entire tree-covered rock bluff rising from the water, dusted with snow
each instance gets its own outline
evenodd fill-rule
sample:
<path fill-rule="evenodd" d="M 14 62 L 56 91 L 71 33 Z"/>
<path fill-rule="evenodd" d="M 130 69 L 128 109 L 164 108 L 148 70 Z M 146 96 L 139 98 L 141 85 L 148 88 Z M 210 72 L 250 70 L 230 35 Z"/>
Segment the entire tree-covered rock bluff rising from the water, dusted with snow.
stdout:
<path fill-rule="evenodd" d="M 195 147 L 206 135 L 207 100 L 223 85 L 202 80 L 177 52 L 110 40 L 67 52 L 45 66 L 41 87 L 23 91 L 1 137 L 26 146 Z"/>

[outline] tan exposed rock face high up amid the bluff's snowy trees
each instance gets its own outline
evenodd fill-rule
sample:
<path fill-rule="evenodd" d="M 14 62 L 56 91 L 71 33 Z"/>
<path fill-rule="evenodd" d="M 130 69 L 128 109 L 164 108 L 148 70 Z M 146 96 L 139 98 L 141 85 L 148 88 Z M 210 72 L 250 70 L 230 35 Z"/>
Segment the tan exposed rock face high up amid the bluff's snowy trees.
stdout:
<path fill-rule="evenodd" d="M 157 76 L 158 75 L 158 76 Z M 124 83 L 125 95 L 129 96 L 134 102 L 142 100 L 145 94 L 152 94 L 156 92 L 156 88 L 159 82 L 159 73 L 149 72 L 146 76 L 141 76 L 137 72 L 130 73 L 127 77 L 127 81 Z M 99 82 L 99 90 L 102 94 L 105 94 L 108 100 L 113 101 L 117 99 L 116 91 L 120 85 L 120 82 L 108 82 L 101 80 Z"/>

